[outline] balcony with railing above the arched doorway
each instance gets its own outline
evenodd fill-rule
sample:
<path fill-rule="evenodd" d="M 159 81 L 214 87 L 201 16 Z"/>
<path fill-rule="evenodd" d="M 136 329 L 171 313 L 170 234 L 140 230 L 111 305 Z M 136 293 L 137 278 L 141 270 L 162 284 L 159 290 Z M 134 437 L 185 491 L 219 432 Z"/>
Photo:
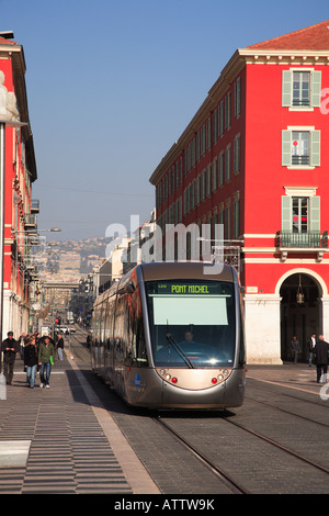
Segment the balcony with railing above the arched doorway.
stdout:
<path fill-rule="evenodd" d="M 328 231 L 321 232 L 277 232 L 276 248 L 281 253 L 282 261 L 285 261 L 288 253 L 316 253 L 317 260 L 321 261 L 324 254 L 328 251 Z"/>

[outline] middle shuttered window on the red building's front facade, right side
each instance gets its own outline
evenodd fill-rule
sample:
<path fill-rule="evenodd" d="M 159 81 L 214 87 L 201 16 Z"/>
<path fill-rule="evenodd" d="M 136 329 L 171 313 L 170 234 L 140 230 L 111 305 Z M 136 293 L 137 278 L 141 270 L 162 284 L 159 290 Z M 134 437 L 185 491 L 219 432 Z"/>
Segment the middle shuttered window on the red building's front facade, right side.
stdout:
<path fill-rule="evenodd" d="M 282 132 L 282 165 L 285 167 L 320 166 L 320 131 L 292 127 Z"/>

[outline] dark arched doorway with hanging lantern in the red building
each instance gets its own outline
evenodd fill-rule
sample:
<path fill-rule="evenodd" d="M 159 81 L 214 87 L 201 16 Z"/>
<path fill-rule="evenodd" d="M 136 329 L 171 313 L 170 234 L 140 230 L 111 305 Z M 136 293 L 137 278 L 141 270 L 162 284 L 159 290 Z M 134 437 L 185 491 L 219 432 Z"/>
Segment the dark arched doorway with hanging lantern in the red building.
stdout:
<path fill-rule="evenodd" d="M 297 294 L 299 295 L 297 299 Z M 281 358 L 291 360 L 291 341 L 297 336 L 302 355 L 299 360 L 308 359 L 307 340 L 313 333 L 322 333 L 321 288 L 305 272 L 288 276 L 280 289 L 281 301 Z"/>

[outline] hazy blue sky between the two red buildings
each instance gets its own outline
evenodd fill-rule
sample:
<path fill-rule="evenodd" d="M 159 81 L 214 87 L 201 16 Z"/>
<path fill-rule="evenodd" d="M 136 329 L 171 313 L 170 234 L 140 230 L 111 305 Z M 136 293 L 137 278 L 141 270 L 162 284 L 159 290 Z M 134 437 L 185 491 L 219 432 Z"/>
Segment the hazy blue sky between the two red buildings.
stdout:
<path fill-rule="evenodd" d="M 0 0 L 23 45 L 47 239 L 129 229 L 149 177 L 237 48 L 329 19 L 328 0 Z"/>

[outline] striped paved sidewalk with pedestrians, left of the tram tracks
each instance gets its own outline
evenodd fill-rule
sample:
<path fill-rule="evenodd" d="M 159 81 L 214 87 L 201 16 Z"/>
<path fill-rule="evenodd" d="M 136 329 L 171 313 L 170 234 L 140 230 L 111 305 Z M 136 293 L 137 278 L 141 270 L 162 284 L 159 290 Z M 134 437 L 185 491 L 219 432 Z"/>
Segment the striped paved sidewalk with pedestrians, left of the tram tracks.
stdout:
<path fill-rule="evenodd" d="M 0 400 L 0 494 L 159 493 L 72 360 L 50 389 L 29 389 L 22 363 Z"/>

